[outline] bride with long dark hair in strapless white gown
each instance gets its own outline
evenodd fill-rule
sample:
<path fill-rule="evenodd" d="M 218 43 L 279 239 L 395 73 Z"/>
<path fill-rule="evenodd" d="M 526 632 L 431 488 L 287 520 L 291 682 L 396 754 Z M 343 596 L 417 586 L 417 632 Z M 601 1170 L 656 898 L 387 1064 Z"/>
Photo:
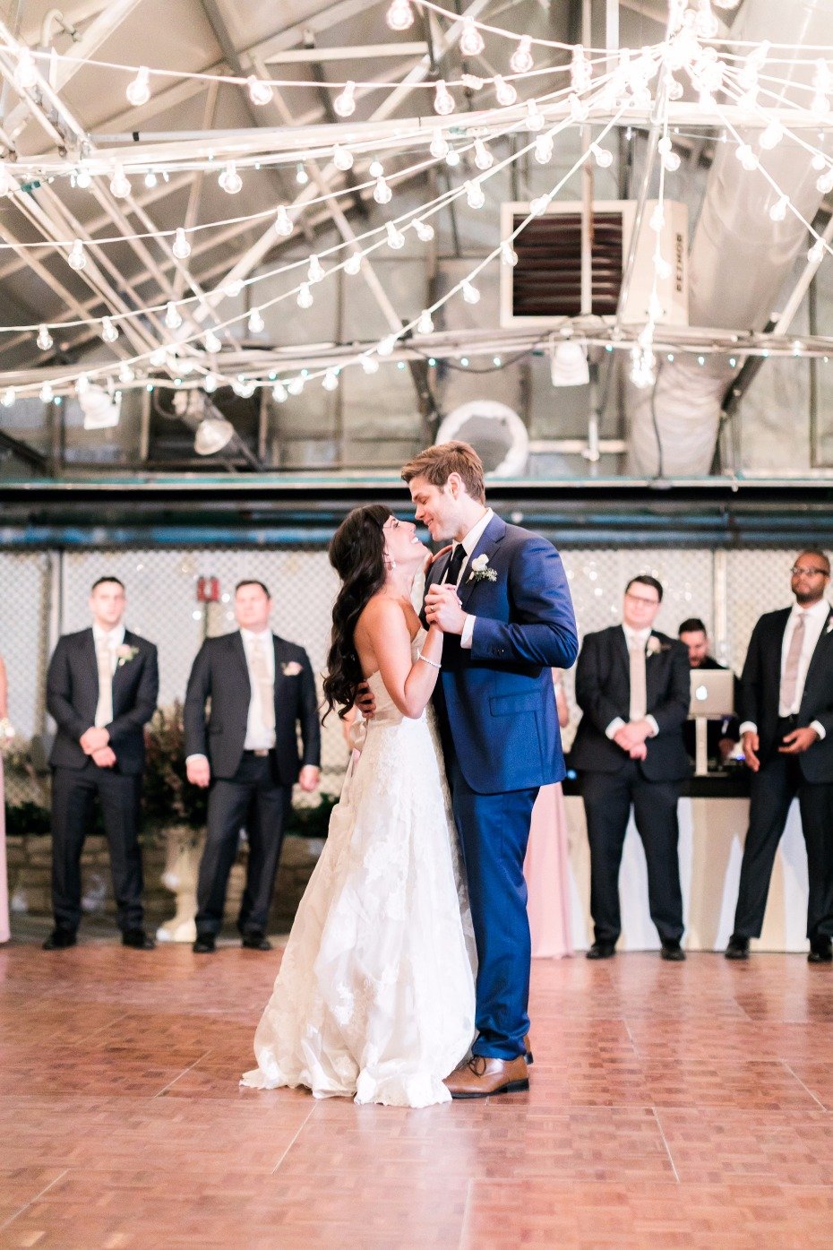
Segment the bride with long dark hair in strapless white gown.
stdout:
<path fill-rule="evenodd" d="M 301 900 L 244 1085 L 428 1106 L 475 1035 L 475 941 L 428 706 L 442 631 L 411 604 L 426 549 L 386 508 L 357 508 L 330 560 L 342 585 L 323 682 L 340 715 L 367 681 L 376 714 Z"/>

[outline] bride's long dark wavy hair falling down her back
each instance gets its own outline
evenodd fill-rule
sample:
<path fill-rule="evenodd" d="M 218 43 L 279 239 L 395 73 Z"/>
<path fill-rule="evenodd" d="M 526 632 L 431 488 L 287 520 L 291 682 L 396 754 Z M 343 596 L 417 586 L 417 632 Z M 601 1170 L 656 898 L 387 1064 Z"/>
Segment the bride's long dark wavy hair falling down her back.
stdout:
<path fill-rule="evenodd" d="M 330 564 L 341 578 L 341 590 L 332 608 L 332 638 L 323 679 L 325 720 L 336 706 L 343 719 L 356 700 L 360 682 L 365 680 L 353 632 L 368 600 L 385 585 L 382 526 L 391 515 L 382 504 L 353 508 L 330 544 Z"/>

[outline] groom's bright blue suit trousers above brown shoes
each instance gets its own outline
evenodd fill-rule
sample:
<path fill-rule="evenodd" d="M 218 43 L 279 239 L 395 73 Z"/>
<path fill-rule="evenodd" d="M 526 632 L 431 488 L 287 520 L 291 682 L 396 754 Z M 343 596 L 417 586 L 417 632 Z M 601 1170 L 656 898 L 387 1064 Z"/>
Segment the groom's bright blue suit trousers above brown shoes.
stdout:
<path fill-rule="evenodd" d="M 523 859 L 538 788 L 476 794 L 448 761 L 477 942 L 476 1055 L 515 1059 L 530 1031 L 530 921 Z"/>

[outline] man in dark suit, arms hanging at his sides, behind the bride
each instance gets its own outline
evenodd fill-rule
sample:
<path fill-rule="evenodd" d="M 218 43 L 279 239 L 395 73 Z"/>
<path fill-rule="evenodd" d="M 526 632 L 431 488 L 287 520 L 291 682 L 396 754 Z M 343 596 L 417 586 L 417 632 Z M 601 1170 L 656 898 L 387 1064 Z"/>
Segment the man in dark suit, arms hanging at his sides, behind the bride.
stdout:
<path fill-rule="evenodd" d="M 311 791 L 318 784 L 321 725 L 312 668 L 303 648 L 272 634 L 271 609 L 261 581 L 241 581 L 235 591 L 240 629 L 206 639 L 189 678 L 189 781 L 211 785 L 197 882 L 197 954 L 215 949 L 244 825 L 249 871 L 237 928 L 244 946 L 271 950 L 266 922 L 292 785 L 298 781 L 301 789 Z M 207 699 L 211 714 L 206 720 Z"/>

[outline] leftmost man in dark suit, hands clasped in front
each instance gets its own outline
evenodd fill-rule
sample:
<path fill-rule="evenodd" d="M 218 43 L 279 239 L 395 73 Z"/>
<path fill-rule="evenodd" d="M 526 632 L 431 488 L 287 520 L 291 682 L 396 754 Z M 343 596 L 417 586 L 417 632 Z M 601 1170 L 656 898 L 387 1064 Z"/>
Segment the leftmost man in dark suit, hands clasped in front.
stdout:
<path fill-rule="evenodd" d="M 81 920 L 81 849 L 97 796 L 110 844 L 112 891 L 125 946 L 152 950 L 144 930 L 139 802 L 144 726 L 156 710 L 156 648 L 122 624 L 117 578 L 90 594 L 92 628 L 59 639 L 46 678 L 57 724 L 52 765 L 52 911 L 45 950 L 74 946 Z"/>

